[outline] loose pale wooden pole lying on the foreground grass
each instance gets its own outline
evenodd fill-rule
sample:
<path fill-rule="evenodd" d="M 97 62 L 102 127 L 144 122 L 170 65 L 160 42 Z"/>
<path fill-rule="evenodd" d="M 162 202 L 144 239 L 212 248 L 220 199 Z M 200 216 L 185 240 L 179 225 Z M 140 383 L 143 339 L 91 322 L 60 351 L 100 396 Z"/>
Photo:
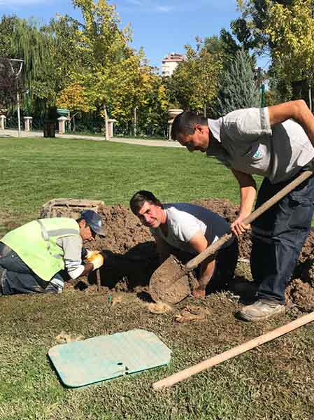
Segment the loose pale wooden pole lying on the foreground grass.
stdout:
<path fill-rule="evenodd" d="M 230 350 L 217 354 L 217 356 L 206 359 L 201 363 L 197 363 L 197 365 L 188 367 L 187 369 L 184 369 L 184 370 L 180 370 L 179 372 L 175 374 L 171 374 L 171 376 L 166 377 L 162 379 L 161 381 L 157 381 L 154 384 L 152 384 L 152 388 L 157 390 L 157 389 L 167 388 L 168 386 L 172 386 L 173 384 L 183 381 L 183 379 L 187 379 L 191 377 L 192 375 L 201 372 L 202 370 L 208 369 L 208 367 L 218 365 L 219 363 L 224 362 L 224 360 L 228 360 L 229 358 L 238 356 L 238 354 L 245 353 L 245 351 L 254 349 L 257 346 L 260 346 L 261 344 L 264 344 L 277 337 L 280 337 L 280 335 L 287 334 L 287 332 L 296 330 L 302 325 L 305 325 L 312 321 L 314 321 L 314 312 L 311 312 L 311 314 L 306 314 L 304 316 L 301 316 L 295 321 L 292 321 L 290 323 L 287 323 L 286 325 L 276 328 L 276 330 L 272 330 L 270 332 L 266 332 L 266 334 L 259 335 L 259 337 L 253 338 L 246 343 L 240 344 L 239 346 L 233 347 Z"/>

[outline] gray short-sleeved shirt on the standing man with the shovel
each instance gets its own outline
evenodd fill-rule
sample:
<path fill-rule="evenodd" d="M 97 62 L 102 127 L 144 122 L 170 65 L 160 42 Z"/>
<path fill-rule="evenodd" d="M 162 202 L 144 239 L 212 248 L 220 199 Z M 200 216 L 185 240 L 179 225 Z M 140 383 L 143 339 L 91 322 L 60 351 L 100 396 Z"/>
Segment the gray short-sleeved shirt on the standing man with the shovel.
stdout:
<path fill-rule="evenodd" d="M 240 109 L 208 120 L 214 140 L 207 155 L 246 174 L 287 181 L 314 158 L 314 148 L 294 120 L 271 127 L 268 108 Z"/>

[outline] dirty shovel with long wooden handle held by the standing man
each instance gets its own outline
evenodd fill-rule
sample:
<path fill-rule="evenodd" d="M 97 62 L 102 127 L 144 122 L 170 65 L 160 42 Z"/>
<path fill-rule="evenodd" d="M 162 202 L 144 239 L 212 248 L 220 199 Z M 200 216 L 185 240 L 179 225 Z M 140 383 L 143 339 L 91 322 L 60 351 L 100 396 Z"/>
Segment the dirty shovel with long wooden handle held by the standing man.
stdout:
<path fill-rule="evenodd" d="M 273 204 L 276 204 L 312 174 L 312 171 L 302 172 L 294 181 L 287 184 L 285 188 L 253 211 L 244 219 L 243 223 L 245 225 L 250 225 L 250 223 L 255 221 L 258 216 L 264 213 L 264 211 L 268 210 Z M 171 304 L 176 304 L 185 299 L 185 297 L 191 293 L 191 279 L 189 273 L 192 269 L 196 268 L 202 261 L 210 257 L 210 255 L 214 255 L 233 236 L 232 233 L 226 233 L 185 265 L 181 264 L 173 255 L 167 258 L 150 278 L 150 295 L 152 299 L 155 300 L 155 302 L 162 301 Z"/>

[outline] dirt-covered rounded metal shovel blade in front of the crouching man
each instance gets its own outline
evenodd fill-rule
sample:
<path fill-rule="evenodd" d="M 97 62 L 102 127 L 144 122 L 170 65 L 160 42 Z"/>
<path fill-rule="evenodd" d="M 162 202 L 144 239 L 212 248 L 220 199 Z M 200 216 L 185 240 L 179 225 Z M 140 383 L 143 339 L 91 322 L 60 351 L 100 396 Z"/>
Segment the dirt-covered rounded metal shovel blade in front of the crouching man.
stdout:
<path fill-rule="evenodd" d="M 150 295 L 155 302 L 176 304 L 192 292 L 194 279 L 171 255 L 150 277 Z"/>

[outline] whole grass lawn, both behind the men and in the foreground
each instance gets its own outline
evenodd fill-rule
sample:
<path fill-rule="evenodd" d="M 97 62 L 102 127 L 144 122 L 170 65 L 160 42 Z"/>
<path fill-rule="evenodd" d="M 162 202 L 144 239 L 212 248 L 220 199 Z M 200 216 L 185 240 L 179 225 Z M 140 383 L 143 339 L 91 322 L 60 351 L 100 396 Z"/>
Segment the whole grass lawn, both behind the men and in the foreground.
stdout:
<path fill-rule="evenodd" d="M 229 170 L 201 153 L 178 148 L 76 139 L 0 139 L 0 235 L 38 216 L 52 198 L 128 204 L 139 189 L 162 201 L 223 197 L 238 201 Z M 88 289 L 87 289 L 88 290 Z M 208 317 L 175 324 L 154 315 L 135 293 L 111 307 L 108 296 L 67 288 L 61 295 L 0 298 L 0 419 L 313 420 L 314 328 L 307 325 L 166 391 L 152 382 L 214 356 L 294 318 L 263 323 L 236 320 L 239 305 L 226 293 L 200 304 Z M 64 388 L 47 358 L 63 331 L 85 338 L 133 328 L 155 332 L 172 350 L 169 367 Z"/>

